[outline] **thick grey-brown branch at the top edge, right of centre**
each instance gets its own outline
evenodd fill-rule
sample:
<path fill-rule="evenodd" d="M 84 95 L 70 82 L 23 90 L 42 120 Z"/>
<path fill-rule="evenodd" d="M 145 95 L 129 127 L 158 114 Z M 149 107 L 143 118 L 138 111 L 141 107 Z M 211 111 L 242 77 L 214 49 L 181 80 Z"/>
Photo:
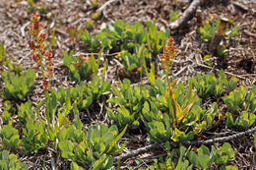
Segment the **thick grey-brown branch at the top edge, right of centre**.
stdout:
<path fill-rule="evenodd" d="M 194 0 L 185 10 L 185 12 L 178 18 L 178 20 L 170 24 L 170 29 L 179 28 L 185 22 L 191 20 L 194 17 L 197 8 L 200 6 L 201 1 L 202 0 Z"/>

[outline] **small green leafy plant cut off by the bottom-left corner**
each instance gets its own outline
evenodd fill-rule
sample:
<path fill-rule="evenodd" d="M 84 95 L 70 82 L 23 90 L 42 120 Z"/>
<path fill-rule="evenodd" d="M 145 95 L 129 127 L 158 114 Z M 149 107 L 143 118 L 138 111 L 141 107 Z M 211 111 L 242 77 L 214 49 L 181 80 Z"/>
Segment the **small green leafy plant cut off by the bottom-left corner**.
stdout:
<path fill-rule="evenodd" d="M 9 154 L 7 150 L 0 151 L 0 169 L 3 170 L 27 170 L 28 165 L 21 162 L 16 154 Z"/>

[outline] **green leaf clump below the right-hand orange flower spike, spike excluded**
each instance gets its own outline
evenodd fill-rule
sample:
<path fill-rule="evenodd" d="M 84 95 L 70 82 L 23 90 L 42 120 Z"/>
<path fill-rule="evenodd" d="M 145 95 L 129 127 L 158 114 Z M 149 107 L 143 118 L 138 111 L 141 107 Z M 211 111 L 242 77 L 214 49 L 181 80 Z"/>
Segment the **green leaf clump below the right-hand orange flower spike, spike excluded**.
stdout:
<path fill-rule="evenodd" d="M 187 91 L 182 84 L 172 88 L 171 94 L 166 93 L 165 90 L 166 85 L 157 80 L 156 87 L 150 89 L 151 96 L 156 97 L 151 97 L 149 103 L 145 102 L 142 110 L 144 124 L 150 128 L 151 139 L 168 141 L 171 138 L 174 142 L 193 140 L 194 135 L 197 134 L 193 128 L 199 129 L 200 126 L 205 125 L 201 130 L 206 129 L 206 124 L 213 120 L 217 112 L 217 106 L 209 110 L 210 120 L 207 121 L 204 115 L 207 114 L 206 111 L 198 109 L 201 101 L 192 91 L 192 84 Z M 205 120 L 205 122 L 202 123 L 203 125 L 198 125 L 196 120 Z"/>

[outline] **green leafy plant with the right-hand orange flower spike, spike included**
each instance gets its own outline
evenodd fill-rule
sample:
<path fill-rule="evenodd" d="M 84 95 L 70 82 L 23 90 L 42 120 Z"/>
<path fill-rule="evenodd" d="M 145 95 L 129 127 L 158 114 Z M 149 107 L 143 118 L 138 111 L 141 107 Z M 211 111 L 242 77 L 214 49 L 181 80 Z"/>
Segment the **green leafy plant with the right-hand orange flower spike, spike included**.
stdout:
<path fill-rule="evenodd" d="M 168 78 L 168 71 L 176 55 L 174 40 L 169 37 L 164 46 L 160 62 L 165 71 L 166 82 L 157 80 L 152 66 L 148 77 L 151 86 L 150 99 L 144 103 L 142 116 L 144 124 L 150 129 L 153 141 L 189 141 L 202 130 L 211 127 L 217 114 L 217 103 L 209 110 L 201 108 L 201 100 L 193 91 L 192 80 L 186 89 L 184 85 L 176 85 L 176 81 Z"/>

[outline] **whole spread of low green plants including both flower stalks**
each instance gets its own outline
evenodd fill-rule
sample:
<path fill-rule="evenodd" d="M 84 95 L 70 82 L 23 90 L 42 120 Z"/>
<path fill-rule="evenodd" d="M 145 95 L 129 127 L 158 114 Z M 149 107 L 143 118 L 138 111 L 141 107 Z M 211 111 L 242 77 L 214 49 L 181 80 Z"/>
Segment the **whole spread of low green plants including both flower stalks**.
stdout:
<path fill-rule="evenodd" d="M 94 36 L 88 30 L 80 32 L 81 40 L 92 51 L 101 50 L 97 58 L 64 52 L 63 63 L 70 71 L 70 81 L 76 85 L 53 89 L 50 87 L 52 53 L 45 50 L 46 34 L 41 32 L 39 19 L 37 14 L 32 15 L 30 47 L 42 73 L 45 98 L 36 106 L 28 99 L 35 79 L 31 69 L 23 72 L 17 67 L 2 73 L 5 101 L 0 129 L 0 169 L 28 169 L 13 153 L 36 154 L 45 148 L 55 150 L 54 162 L 65 159 L 72 170 L 114 169 L 117 163 L 114 156 L 126 147 L 121 138 L 137 130 L 146 132 L 150 142 L 165 143 L 167 154 L 148 169 L 237 169 L 229 165 L 236 153 L 229 143 L 213 145 L 210 149 L 205 145 L 171 148 L 170 142 L 198 139 L 216 122 L 223 122 L 227 128 L 249 129 L 256 121 L 255 86 L 237 87 L 237 80 L 227 81 L 223 71 L 218 78 L 214 74 L 198 74 L 187 86 L 183 85 L 169 76 L 177 55 L 171 36 L 167 38 L 167 33 L 159 31 L 153 23 L 146 24 L 145 32 L 142 24 L 117 21 Z M 150 73 L 146 66 L 147 60 L 161 50 L 164 79 L 156 78 L 154 64 Z M 125 74 L 145 68 L 150 84 L 133 86 L 130 80 L 124 79 L 118 87 L 106 82 L 102 76 L 107 70 L 107 60 L 99 74 L 100 58 L 103 52 L 116 51 Z M 0 61 L 5 56 L 0 46 Z M 19 104 L 13 107 L 9 101 L 12 99 L 19 100 Z M 206 100 L 210 104 L 205 105 Z M 86 127 L 81 120 L 82 111 L 98 103 L 104 106 L 110 124 L 97 122 Z M 222 103 L 224 116 L 218 114 Z"/>

